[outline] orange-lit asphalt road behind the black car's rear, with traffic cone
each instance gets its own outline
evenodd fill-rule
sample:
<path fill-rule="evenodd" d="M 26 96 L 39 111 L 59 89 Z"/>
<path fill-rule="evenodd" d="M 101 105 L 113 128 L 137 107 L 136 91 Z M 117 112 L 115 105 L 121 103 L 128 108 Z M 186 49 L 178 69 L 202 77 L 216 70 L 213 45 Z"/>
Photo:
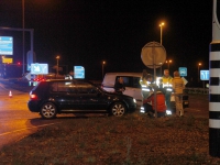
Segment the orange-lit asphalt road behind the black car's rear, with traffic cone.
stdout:
<path fill-rule="evenodd" d="M 10 91 L 12 97 L 9 97 Z M 28 91 L 19 91 L 11 85 L 0 84 L 0 148 L 34 133 L 42 127 L 61 122 L 42 120 L 37 113 L 30 112 L 28 100 Z"/>

